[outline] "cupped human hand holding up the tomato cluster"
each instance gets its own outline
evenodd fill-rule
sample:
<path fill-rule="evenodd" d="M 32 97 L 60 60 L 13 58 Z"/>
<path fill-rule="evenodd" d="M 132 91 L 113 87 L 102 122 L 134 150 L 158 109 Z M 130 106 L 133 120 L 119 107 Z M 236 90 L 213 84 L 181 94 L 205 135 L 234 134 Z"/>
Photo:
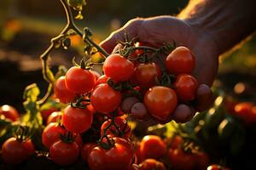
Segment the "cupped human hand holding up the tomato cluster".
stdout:
<path fill-rule="evenodd" d="M 177 105 L 176 111 L 172 114 L 173 120 L 188 122 L 195 115 L 195 111 L 203 111 L 211 105 L 212 92 L 209 86 L 218 71 L 218 48 L 206 31 L 172 16 L 134 19 L 104 40 L 101 43 L 102 48 L 111 53 L 117 45 L 117 40 L 125 40 L 125 31 L 128 37 L 137 37 L 138 42 L 146 42 L 153 47 L 175 41 L 178 45 L 191 49 L 195 54 L 194 76 L 201 84 L 196 93 L 197 105 Z"/>

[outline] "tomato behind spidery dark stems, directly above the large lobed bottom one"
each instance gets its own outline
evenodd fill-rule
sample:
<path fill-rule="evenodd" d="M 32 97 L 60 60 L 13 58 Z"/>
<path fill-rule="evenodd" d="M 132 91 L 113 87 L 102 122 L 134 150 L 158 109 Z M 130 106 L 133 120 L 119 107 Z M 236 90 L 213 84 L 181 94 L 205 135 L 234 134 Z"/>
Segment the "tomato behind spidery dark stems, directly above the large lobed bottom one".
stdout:
<path fill-rule="evenodd" d="M 106 133 L 112 137 L 116 136 L 116 137 L 129 139 L 131 136 L 131 127 L 129 127 L 127 121 L 124 118 L 118 116 L 118 117 L 115 117 L 114 122 L 117 125 L 117 127 L 119 127 L 119 130 L 120 132 L 122 132 L 122 134 L 119 134 L 118 129 L 114 126 L 108 128 Z M 103 135 L 104 133 L 104 128 L 108 127 L 110 123 L 111 123 L 111 119 L 108 119 L 108 121 L 103 122 L 101 127 L 101 135 Z"/>

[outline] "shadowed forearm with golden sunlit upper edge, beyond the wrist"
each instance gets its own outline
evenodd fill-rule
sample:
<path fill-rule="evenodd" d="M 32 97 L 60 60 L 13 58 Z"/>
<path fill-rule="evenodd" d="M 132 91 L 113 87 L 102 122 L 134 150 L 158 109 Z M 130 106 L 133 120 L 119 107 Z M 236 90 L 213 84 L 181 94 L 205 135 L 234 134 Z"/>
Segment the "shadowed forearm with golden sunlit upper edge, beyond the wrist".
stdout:
<path fill-rule="evenodd" d="M 178 17 L 208 34 L 222 54 L 255 31 L 255 4 L 254 0 L 191 0 Z"/>

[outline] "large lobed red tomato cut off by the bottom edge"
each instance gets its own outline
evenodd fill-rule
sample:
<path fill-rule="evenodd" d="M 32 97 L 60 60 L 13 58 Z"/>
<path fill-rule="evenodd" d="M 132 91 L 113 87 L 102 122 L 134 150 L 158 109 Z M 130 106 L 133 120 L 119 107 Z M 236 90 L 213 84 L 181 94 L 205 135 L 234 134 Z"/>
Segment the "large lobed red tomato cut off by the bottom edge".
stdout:
<path fill-rule="evenodd" d="M 125 139 L 113 138 L 114 146 L 109 150 L 96 146 L 90 150 L 88 164 L 93 170 L 121 170 L 131 165 L 133 153 Z"/>

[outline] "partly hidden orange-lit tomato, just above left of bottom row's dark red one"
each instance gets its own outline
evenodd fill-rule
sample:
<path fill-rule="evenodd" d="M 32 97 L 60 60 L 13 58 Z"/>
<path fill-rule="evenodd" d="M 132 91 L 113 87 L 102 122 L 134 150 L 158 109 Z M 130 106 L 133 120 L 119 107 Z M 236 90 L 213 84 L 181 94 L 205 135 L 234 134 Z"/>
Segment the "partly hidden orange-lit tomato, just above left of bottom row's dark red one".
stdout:
<path fill-rule="evenodd" d="M 59 123 L 49 123 L 44 128 L 42 133 L 42 143 L 46 148 L 49 148 L 52 144 L 60 139 L 60 135 L 64 135 L 67 131 L 59 125 Z"/>

